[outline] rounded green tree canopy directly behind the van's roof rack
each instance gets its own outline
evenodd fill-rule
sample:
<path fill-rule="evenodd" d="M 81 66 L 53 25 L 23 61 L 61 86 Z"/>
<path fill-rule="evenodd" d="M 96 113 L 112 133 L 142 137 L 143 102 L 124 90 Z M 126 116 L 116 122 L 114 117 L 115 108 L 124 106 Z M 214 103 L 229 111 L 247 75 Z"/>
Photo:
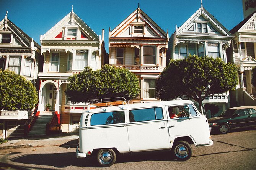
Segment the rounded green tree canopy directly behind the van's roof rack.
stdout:
<path fill-rule="evenodd" d="M 140 93 L 139 80 L 135 74 L 109 65 L 97 71 L 85 67 L 83 72 L 72 75 L 69 80 L 65 94 L 72 103 L 120 96 L 129 100 Z"/>

